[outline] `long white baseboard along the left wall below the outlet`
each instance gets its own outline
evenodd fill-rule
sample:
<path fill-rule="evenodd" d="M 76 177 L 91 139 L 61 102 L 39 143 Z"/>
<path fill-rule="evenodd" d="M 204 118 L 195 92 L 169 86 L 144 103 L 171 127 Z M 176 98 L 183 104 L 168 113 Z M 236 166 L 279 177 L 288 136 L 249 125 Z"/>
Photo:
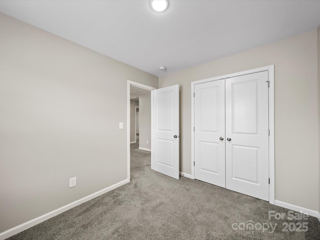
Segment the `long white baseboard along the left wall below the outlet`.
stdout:
<path fill-rule="evenodd" d="M 108 186 L 108 187 L 102 189 L 102 190 L 94 192 L 94 193 L 92 193 L 90 195 L 82 197 L 81 199 L 73 201 L 73 202 L 71 202 L 71 203 L 69 203 L 67 205 L 64 205 L 64 206 L 62 206 L 60 208 L 57 208 L 57 209 L 55 209 L 53 211 L 45 213 L 45 214 L 43 214 L 41 216 L 38 216 L 38 217 L 36 217 L 34 219 L 31 219 L 31 220 L 29 220 L 27 222 L 24 222 L 24 223 L 22 223 L 20 225 L 15 226 L 15 227 L 12 227 L 12 228 L 10 228 L 10 229 L 8 229 L 6 231 L 3 231 L 3 232 L 0 233 L 0 240 L 4 240 L 4 239 L 6 239 L 6 238 L 8 238 L 10 236 L 13 236 L 13 235 L 21 232 L 21 231 L 24 231 L 24 230 L 26 230 L 26 229 L 28 229 L 28 228 L 36 225 L 36 224 L 39 224 L 42 221 L 45 221 L 45 220 L 47 220 L 47 219 L 49 219 L 49 218 L 51 218 L 53 216 L 56 216 L 56 215 L 66 211 L 66 210 L 71 209 L 72 207 L 80 205 L 83 202 L 91 200 L 91 199 L 93 199 L 93 198 L 95 198 L 95 197 L 97 197 L 99 195 L 102 195 L 102 194 L 104 194 L 104 193 L 106 193 L 106 192 L 108 192 L 110 190 L 113 190 L 114 188 L 117 188 L 117 187 L 119 187 L 119 186 L 121 186 L 121 185 L 123 185 L 123 184 L 125 184 L 127 182 L 129 182 L 129 179 L 125 179 L 123 181 L 115 183 L 115 184 L 113 184 L 111 186 Z"/>

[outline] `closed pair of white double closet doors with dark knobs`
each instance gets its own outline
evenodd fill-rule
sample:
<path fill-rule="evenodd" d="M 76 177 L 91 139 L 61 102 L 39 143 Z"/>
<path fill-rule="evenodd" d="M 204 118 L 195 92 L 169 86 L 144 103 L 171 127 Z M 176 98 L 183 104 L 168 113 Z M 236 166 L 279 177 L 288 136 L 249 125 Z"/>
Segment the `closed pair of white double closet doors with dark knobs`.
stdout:
<path fill-rule="evenodd" d="M 194 85 L 194 177 L 269 200 L 268 71 Z"/>

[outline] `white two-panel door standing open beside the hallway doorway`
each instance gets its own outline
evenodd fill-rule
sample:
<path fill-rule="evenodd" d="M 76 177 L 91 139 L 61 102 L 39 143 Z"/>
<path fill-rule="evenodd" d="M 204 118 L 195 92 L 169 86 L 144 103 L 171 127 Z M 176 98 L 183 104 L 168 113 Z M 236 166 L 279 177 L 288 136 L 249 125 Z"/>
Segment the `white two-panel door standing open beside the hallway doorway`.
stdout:
<path fill-rule="evenodd" d="M 153 170 L 179 179 L 179 85 L 152 91 Z"/>

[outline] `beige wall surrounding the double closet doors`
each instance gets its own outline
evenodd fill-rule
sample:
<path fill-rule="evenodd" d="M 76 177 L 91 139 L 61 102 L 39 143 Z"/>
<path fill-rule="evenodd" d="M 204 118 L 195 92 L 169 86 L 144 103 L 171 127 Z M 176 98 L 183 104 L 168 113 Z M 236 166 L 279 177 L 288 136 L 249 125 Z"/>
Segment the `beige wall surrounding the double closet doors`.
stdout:
<path fill-rule="evenodd" d="M 191 173 L 190 82 L 274 64 L 275 199 L 317 210 L 316 34 L 314 30 L 159 77 L 159 87 L 180 85 L 182 172 Z"/>

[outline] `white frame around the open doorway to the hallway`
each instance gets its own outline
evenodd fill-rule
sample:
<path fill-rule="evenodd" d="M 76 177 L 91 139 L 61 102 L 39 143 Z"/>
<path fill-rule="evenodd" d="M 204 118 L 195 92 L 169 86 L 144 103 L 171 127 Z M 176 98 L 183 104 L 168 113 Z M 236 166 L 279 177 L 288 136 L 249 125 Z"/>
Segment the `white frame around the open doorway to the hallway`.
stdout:
<path fill-rule="evenodd" d="M 127 152 L 127 179 L 130 181 L 130 85 L 137 86 L 149 91 L 156 89 L 153 86 L 144 85 L 139 82 L 127 80 L 127 92 L 126 92 L 126 152 Z M 151 115 L 152 115 L 152 99 L 151 99 Z M 152 127 L 152 118 L 151 118 L 151 127 Z M 136 136 L 136 135 L 135 135 Z M 151 131 L 151 139 L 152 139 L 152 131 Z M 152 144 L 152 142 L 151 142 Z M 152 164 L 152 161 L 151 161 Z"/>

